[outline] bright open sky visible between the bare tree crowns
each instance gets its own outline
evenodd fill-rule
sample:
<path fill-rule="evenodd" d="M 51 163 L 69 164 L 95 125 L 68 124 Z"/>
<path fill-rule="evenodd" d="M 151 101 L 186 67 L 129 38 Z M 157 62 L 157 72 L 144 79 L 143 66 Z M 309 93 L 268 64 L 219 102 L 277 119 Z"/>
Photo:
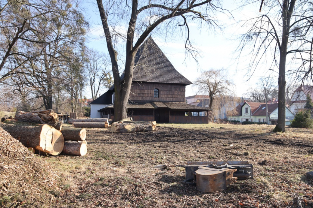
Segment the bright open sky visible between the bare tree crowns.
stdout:
<path fill-rule="evenodd" d="M 201 51 L 201 57 L 198 58 L 198 65 L 191 57 L 185 59 L 185 39 L 179 35 L 171 37 L 169 41 L 165 41 L 163 36 L 152 35 L 152 38 L 176 70 L 191 82 L 194 82 L 200 76 L 202 70 L 224 68 L 227 76 L 236 86 L 235 95 L 242 97 L 247 93 L 249 88 L 257 87 L 256 82 L 260 77 L 277 77 L 278 73 L 269 71 L 270 66 L 264 64 L 256 72 L 251 74 L 249 69 L 247 69 L 251 57 L 243 56 L 239 59 L 236 58 L 238 55 L 236 49 L 240 44 L 239 37 L 247 30 L 246 27 L 241 27 L 242 22 L 253 17 L 258 17 L 262 13 L 259 13 L 259 3 L 238 9 L 238 5 L 232 2 L 228 1 L 224 3 L 223 8 L 231 11 L 234 19 L 222 14 L 218 16 L 220 25 L 223 27 L 222 31 L 210 32 L 206 29 L 199 30 L 198 25 L 189 25 L 191 31 L 190 39 L 193 45 Z M 107 53 L 106 42 L 103 38 L 104 32 L 96 2 L 85 2 L 84 6 L 86 8 L 86 17 L 90 22 L 87 45 L 95 50 Z M 248 53 L 248 51 L 246 52 Z M 275 70 L 277 71 L 277 69 Z M 105 90 L 102 90 L 101 94 L 104 92 Z M 192 85 L 186 86 L 186 96 L 195 94 L 197 94 L 195 87 Z"/>

